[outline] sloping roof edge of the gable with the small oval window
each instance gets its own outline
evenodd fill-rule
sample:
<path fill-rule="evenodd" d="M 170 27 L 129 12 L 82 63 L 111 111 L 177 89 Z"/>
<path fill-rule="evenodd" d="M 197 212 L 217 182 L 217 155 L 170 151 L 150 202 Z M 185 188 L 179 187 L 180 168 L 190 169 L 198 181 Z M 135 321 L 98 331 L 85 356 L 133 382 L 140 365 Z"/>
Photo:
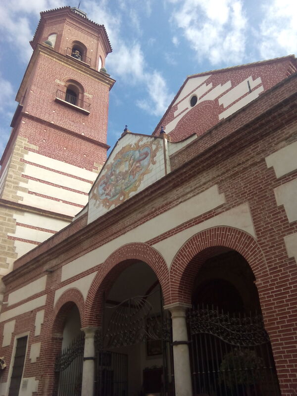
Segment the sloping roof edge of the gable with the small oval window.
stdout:
<path fill-rule="evenodd" d="M 281 56 L 278 58 L 272 58 L 272 59 L 267 59 L 267 60 L 259 60 L 257 62 L 251 62 L 251 63 L 245 63 L 242 65 L 238 65 L 238 66 L 230 66 L 230 67 L 225 67 L 224 69 L 215 69 L 215 70 L 209 70 L 209 71 L 205 71 L 202 73 L 198 73 L 198 74 L 191 74 L 189 76 L 187 76 L 186 80 L 184 81 L 183 85 L 180 87 L 180 89 L 178 90 L 177 94 L 175 95 L 175 97 L 172 99 L 171 103 L 169 104 L 167 110 L 165 111 L 165 113 L 163 114 L 162 118 L 160 119 L 160 121 L 158 122 L 158 124 L 156 125 L 152 135 L 154 136 L 155 133 L 157 133 L 157 130 L 160 128 L 160 126 L 162 125 L 162 121 L 165 118 L 165 116 L 167 115 L 169 109 L 172 107 L 173 103 L 175 102 L 175 100 L 178 98 L 179 94 L 182 92 L 184 86 L 187 84 L 188 80 L 190 78 L 195 78 L 195 77 L 199 77 L 199 76 L 205 76 L 206 74 L 214 74 L 214 73 L 224 73 L 226 71 L 229 70 L 234 70 L 234 69 L 240 69 L 240 68 L 244 68 L 244 67 L 250 67 L 250 66 L 254 66 L 254 65 L 258 65 L 258 64 L 264 64 L 264 63 L 270 63 L 270 62 L 275 62 L 275 61 L 279 61 L 279 60 L 284 60 L 284 59 L 289 59 L 292 58 L 292 60 L 294 60 L 297 63 L 297 59 L 296 56 L 294 54 L 291 55 L 286 55 L 286 56 Z M 297 65 L 296 65 L 297 66 Z M 165 131 L 166 132 L 166 131 Z"/>

